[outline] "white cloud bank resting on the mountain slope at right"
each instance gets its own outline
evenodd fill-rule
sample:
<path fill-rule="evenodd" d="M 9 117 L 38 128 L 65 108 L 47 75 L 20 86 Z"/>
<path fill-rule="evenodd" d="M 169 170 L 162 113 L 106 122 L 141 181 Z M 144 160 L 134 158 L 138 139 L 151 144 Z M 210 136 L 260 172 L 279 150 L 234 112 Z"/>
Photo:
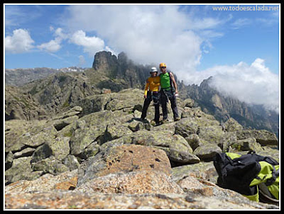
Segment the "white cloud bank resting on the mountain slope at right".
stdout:
<path fill-rule="evenodd" d="M 264 60 L 258 58 L 250 65 L 239 62 L 231 66 L 215 66 L 192 74 L 194 79 L 210 76 L 213 77 L 210 86 L 225 96 L 279 111 L 279 77 L 266 67 Z"/>

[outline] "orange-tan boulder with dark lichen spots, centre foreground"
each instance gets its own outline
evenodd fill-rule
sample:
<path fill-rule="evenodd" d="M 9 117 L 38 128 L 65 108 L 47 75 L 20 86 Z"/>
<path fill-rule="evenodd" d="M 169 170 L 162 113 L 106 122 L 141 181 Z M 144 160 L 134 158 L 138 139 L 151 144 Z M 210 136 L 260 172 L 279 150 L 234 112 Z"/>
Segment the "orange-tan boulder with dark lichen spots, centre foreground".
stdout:
<path fill-rule="evenodd" d="M 141 145 L 107 147 L 81 164 L 77 186 L 98 176 L 141 170 L 162 171 L 170 175 L 170 161 L 163 150 L 156 148 Z"/>

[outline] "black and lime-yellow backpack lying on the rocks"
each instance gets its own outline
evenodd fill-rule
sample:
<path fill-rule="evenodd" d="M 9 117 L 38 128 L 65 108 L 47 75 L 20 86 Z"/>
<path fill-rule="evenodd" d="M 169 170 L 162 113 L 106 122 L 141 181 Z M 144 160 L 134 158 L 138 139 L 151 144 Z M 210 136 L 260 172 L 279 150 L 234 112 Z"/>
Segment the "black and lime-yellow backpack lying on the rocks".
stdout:
<path fill-rule="evenodd" d="M 241 193 L 252 201 L 279 204 L 279 164 L 256 152 L 218 153 L 214 157 L 217 185 Z"/>

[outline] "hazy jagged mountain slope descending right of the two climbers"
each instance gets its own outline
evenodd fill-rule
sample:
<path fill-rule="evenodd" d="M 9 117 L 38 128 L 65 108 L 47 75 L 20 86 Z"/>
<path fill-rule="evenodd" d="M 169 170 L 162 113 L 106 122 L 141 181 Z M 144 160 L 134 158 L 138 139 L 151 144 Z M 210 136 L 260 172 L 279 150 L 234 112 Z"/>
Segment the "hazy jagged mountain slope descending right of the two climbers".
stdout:
<path fill-rule="evenodd" d="M 212 114 L 220 123 L 224 123 L 228 118 L 234 118 L 246 128 L 270 130 L 278 136 L 278 113 L 268 111 L 261 105 L 249 105 L 236 98 L 223 96 L 209 86 L 210 81 L 212 77 L 204 79 L 200 86 L 185 86 L 179 83 L 182 96 L 192 98 L 196 106 L 200 106 L 205 113 Z"/>

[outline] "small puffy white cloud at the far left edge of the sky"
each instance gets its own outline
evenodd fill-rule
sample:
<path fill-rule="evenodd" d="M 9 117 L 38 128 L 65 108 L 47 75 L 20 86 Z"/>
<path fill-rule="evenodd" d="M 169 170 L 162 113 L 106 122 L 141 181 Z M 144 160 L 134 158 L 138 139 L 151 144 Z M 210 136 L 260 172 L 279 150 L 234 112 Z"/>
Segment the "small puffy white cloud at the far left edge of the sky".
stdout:
<path fill-rule="evenodd" d="M 20 28 L 13 30 L 13 35 L 6 36 L 5 50 L 11 53 L 29 52 L 33 48 L 33 43 L 28 30 Z"/>

